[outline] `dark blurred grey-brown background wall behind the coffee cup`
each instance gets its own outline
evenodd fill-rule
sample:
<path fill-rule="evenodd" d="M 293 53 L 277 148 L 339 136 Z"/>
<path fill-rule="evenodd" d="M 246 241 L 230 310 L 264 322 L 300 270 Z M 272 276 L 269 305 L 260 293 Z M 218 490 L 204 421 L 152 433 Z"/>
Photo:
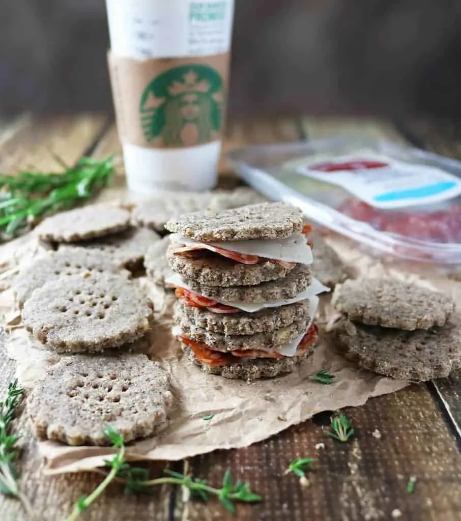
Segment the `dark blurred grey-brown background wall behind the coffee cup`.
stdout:
<path fill-rule="evenodd" d="M 1 113 L 111 110 L 104 0 L 1 4 Z M 459 118 L 460 23 L 461 0 L 236 0 L 230 111 Z"/>

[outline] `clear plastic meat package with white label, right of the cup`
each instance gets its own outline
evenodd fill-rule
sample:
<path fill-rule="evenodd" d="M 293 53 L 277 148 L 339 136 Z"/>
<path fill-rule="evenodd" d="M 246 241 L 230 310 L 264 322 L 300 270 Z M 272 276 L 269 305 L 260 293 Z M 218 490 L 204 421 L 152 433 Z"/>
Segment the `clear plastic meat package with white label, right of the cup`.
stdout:
<path fill-rule="evenodd" d="M 461 162 L 387 141 L 334 137 L 229 154 L 252 187 L 381 254 L 461 264 Z"/>

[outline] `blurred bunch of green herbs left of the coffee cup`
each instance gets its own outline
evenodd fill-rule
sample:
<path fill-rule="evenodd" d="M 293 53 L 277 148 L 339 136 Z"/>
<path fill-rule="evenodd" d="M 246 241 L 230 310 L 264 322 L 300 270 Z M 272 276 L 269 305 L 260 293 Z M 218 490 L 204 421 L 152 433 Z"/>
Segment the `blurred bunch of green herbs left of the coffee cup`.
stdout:
<path fill-rule="evenodd" d="M 19 172 L 0 175 L 0 233 L 13 237 L 39 217 L 68 209 L 94 195 L 110 181 L 111 157 L 97 161 L 83 157 L 75 166 L 64 166 L 63 173 Z"/>

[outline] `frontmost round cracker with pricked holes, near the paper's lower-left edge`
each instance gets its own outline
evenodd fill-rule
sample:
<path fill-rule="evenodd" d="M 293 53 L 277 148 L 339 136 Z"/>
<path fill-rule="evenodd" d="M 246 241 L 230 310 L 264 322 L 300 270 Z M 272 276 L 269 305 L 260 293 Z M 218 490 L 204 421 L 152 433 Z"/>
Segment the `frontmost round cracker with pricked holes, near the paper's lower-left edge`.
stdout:
<path fill-rule="evenodd" d="M 169 378 L 145 355 L 66 356 L 35 384 L 29 413 L 35 436 L 68 445 L 108 445 L 106 425 L 125 442 L 167 424 Z"/>

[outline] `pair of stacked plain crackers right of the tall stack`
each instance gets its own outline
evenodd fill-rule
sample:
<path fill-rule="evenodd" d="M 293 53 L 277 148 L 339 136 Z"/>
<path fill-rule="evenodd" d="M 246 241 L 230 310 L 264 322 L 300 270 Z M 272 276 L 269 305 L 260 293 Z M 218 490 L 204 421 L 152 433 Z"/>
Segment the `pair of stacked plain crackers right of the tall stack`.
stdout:
<path fill-rule="evenodd" d="M 461 320 L 451 297 L 392 279 L 347 280 L 332 303 L 335 345 L 359 367 L 412 381 L 461 367 Z"/>

